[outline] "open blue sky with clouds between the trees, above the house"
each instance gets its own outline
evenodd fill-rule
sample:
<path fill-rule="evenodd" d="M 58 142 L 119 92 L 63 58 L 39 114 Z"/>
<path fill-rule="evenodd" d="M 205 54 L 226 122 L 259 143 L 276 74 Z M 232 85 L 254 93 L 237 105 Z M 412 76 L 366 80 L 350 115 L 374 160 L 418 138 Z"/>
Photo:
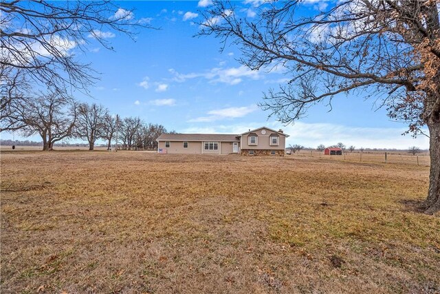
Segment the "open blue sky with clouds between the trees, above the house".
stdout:
<path fill-rule="evenodd" d="M 340 95 L 333 110 L 322 103 L 309 109 L 306 118 L 294 125 L 267 119 L 257 103 L 263 92 L 288 78 L 279 72 L 252 72 L 236 59 L 240 52 L 229 46 L 221 53 L 214 37 L 193 37 L 199 30 L 201 11 L 208 1 L 124 1 L 120 8 L 135 8 L 133 17 L 160 30 L 142 30 L 131 41 L 128 36 L 103 31 L 114 50 L 91 40 L 88 52 L 73 54 L 91 62 L 100 81 L 91 96 L 76 98 L 105 105 L 113 114 L 140 116 L 147 123 L 159 123 L 177 132 L 239 134 L 266 125 L 282 128 L 287 144 L 316 147 L 342 142 L 356 147 L 406 149 L 428 148 L 428 138 L 401 136 L 406 125 L 395 123 L 373 100 Z M 241 13 L 252 17 L 253 3 L 236 1 Z M 252 1 L 248 1 L 252 2 Z M 305 3 L 312 13 L 325 3 Z M 2 138 L 10 138 L 2 134 Z M 17 138 L 17 135 L 16 135 Z M 39 140 L 33 137 L 34 140 Z"/>

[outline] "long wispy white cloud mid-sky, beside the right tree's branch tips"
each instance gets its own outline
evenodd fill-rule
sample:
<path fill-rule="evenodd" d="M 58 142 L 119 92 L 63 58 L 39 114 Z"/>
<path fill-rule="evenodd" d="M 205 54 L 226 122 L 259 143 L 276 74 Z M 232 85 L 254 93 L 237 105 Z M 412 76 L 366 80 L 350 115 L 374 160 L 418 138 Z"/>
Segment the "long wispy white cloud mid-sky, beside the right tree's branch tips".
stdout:
<path fill-rule="evenodd" d="M 243 78 L 251 78 L 253 80 L 258 80 L 261 78 L 259 71 L 250 70 L 245 65 L 241 65 L 239 67 L 214 67 L 208 72 L 192 72 L 190 74 L 180 74 L 176 72 L 173 68 L 168 70 L 171 74 L 174 75 L 173 81 L 176 82 L 184 82 L 191 78 L 206 78 L 210 83 L 226 83 L 229 85 L 236 85 L 243 81 Z"/>

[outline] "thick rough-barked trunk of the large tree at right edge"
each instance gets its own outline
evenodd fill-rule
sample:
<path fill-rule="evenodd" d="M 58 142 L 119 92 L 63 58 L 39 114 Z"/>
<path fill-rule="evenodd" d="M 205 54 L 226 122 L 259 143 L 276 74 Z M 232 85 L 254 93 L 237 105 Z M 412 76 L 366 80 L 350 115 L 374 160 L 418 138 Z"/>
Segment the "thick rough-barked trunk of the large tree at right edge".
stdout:
<path fill-rule="evenodd" d="M 427 123 L 430 134 L 430 174 L 428 198 L 425 200 L 425 213 L 433 214 L 440 211 L 440 120 Z"/>

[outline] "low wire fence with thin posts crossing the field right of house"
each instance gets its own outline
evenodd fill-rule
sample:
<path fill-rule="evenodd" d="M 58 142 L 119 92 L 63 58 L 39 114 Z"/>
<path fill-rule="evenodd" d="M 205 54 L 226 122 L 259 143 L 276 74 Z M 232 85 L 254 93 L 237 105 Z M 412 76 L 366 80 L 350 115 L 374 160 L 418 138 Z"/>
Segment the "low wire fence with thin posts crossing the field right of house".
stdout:
<path fill-rule="evenodd" d="M 289 156 L 289 155 L 287 155 Z M 327 160 L 341 160 L 353 162 L 379 162 L 379 163 L 394 163 L 418 166 L 430 166 L 430 156 L 428 152 L 421 154 L 404 154 L 399 152 L 381 152 L 381 151 L 353 151 L 344 152 L 342 155 L 325 155 L 324 151 L 316 150 L 300 150 L 290 155 L 301 158 L 322 158 Z"/>

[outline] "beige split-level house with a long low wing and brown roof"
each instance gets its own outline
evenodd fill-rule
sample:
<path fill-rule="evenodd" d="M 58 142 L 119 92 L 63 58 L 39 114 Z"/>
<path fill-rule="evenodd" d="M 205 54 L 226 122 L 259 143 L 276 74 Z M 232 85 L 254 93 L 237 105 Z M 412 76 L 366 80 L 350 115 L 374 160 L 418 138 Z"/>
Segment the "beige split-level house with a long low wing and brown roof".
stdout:
<path fill-rule="evenodd" d="M 284 156 L 283 130 L 268 127 L 243 134 L 162 134 L 157 138 L 160 154 L 240 154 Z"/>

